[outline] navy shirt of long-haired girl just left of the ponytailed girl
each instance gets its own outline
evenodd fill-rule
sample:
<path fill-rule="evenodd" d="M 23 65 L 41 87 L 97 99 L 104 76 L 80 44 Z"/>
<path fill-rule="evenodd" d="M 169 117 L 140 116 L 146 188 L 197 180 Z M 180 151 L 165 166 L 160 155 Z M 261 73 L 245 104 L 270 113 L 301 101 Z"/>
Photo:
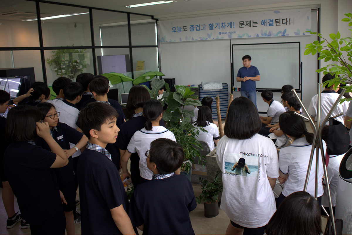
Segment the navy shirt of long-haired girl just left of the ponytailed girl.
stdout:
<path fill-rule="evenodd" d="M 116 145 L 120 150 L 127 150 L 127 146 L 130 143 L 130 140 L 133 134 L 136 131 L 144 128 L 144 123 L 147 120 L 144 116 L 136 116 L 131 118 L 127 122 L 123 123 L 120 127 L 119 135 L 117 136 Z M 164 120 L 159 121 L 159 125 L 165 127 Z M 131 180 L 134 186 L 139 184 L 139 156 L 137 153 L 132 153 L 131 155 Z"/>

